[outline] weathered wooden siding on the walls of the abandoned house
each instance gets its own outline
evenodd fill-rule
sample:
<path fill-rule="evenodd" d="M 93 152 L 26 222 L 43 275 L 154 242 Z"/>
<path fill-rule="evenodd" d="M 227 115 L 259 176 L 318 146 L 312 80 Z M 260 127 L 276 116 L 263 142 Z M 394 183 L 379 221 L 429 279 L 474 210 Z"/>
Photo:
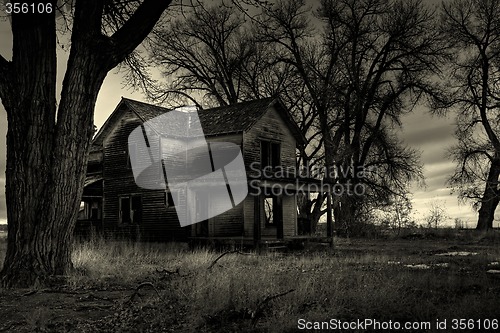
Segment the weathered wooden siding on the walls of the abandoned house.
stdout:
<path fill-rule="evenodd" d="M 114 118 L 112 130 L 106 132 L 103 140 L 103 225 L 114 233 L 138 233 L 143 239 L 171 240 L 190 236 L 191 227 L 181 228 L 174 207 L 165 205 L 165 191 L 163 189 L 145 189 L 137 186 L 133 177 L 128 159 L 128 136 L 132 130 L 140 126 L 142 121 L 130 110 L 123 108 L 120 115 Z M 145 166 L 151 160 L 150 153 L 161 156 L 161 142 L 156 135 L 150 135 L 149 151 L 141 149 L 141 142 L 137 142 L 138 149 L 135 158 Z M 296 141 L 285 121 L 279 113 L 270 108 L 266 114 L 243 134 L 211 136 L 208 142 L 231 142 L 242 147 L 242 154 L 247 168 L 253 162 L 260 163 L 261 141 L 280 143 L 280 161 L 284 167 L 295 167 Z M 168 158 L 168 156 L 163 156 Z M 98 162 L 97 154 L 93 160 Z M 95 163 L 94 162 L 94 163 Z M 148 184 L 159 187 L 163 184 L 161 164 L 156 168 L 149 168 L 146 172 Z M 119 209 L 120 197 L 140 195 L 142 198 L 142 221 L 139 225 L 120 225 Z M 184 197 L 185 199 L 185 197 Z M 247 196 L 235 208 L 209 219 L 209 236 L 212 237 L 253 237 L 254 235 L 254 196 Z M 217 199 L 211 198 L 210 205 L 217 205 Z M 262 205 L 263 207 L 263 205 Z M 283 236 L 296 234 L 296 198 L 285 196 L 282 198 L 283 208 Z M 261 211 L 263 214 L 263 210 Z M 262 235 L 276 237 L 274 230 L 265 226 L 265 219 L 261 218 Z"/>

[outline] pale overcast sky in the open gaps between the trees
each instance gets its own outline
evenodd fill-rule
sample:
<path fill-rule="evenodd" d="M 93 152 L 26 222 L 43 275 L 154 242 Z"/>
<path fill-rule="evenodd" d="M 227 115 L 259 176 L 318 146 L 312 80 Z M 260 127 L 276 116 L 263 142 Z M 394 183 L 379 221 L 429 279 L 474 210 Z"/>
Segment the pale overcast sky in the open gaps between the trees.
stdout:
<path fill-rule="evenodd" d="M 0 22 L 0 54 L 10 60 L 12 54 L 10 26 L 8 22 Z M 58 82 L 62 81 L 68 54 L 58 53 Z M 60 92 L 60 86 L 58 93 Z M 124 89 L 122 77 L 116 71 L 108 74 L 99 93 L 95 110 L 95 124 L 100 127 L 114 110 L 121 96 L 144 100 L 140 93 Z M 432 204 L 441 205 L 450 216 L 449 224 L 455 217 L 462 218 L 473 227 L 477 221 L 477 213 L 468 205 L 459 205 L 454 194 L 446 187 L 446 180 L 453 172 L 454 164 L 447 159 L 447 150 L 454 143 L 453 117 L 438 118 L 431 116 L 424 107 L 419 107 L 414 113 L 403 119 L 401 137 L 412 147 L 422 151 L 424 164 L 425 188 L 415 185 L 413 191 L 413 206 L 416 220 L 422 220 L 429 212 Z M 6 221 L 5 207 L 5 159 L 7 117 L 0 105 L 0 223 Z M 497 223 L 497 222 L 496 222 Z M 495 223 L 495 226 L 497 225 Z"/>

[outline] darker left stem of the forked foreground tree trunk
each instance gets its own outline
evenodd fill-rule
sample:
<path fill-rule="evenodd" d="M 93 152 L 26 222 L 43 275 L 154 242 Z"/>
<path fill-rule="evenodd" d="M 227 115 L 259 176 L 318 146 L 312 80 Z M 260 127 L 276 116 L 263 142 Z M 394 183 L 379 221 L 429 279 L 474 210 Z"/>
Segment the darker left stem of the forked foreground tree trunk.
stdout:
<path fill-rule="evenodd" d="M 28 286 L 36 283 L 33 272 L 47 272 L 55 263 L 66 260 L 61 249 L 43 240 L 51 233 L 48 221 L 48 171 L 52 159 L 52 138 L 56 113 L 56 39 L 54 20 L 33 20 L 33 28 L 19 16 L 12 19 L 12 29 L 20 38 L 14 40 L 15 77 L 2 94 L 7 111 L 6 201 L 8 219 L 7 253 L 1 282 L 3 286 Z M 36 47 L 36 57 L 30 56 Z M 15 87 L 15 88 L 14 88 Z M 7 90 L 7 89 L 6 89 Z M 47 207 L 46 207 L 47 206 Z M 45 253 L 51 251 L 51 255 Z M 66 255 L 67 256 L 67 255 Z M 15 273 L 14 273 L 15 272 Z"/>

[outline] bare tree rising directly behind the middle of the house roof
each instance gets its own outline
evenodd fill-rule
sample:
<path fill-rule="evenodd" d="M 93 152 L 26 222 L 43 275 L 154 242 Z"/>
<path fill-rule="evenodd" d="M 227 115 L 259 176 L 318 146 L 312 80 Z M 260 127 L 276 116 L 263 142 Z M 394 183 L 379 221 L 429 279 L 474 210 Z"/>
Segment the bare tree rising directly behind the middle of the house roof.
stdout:
<path fill-rule="evenodd" d="M 155 33 L 153 45 L 153 61 L 170 80 L 150 89 L 154 100 L 199 96 L 227 105 L 269 94 L 264 90 L 270 85 L 262 82 L 270 78 L 263 75 L 270 68 L 266 50 L 233 7 L 197 3 L 185 18 L 170 17 Z M 278 71 L 273 74 L 279 79 Z"/>

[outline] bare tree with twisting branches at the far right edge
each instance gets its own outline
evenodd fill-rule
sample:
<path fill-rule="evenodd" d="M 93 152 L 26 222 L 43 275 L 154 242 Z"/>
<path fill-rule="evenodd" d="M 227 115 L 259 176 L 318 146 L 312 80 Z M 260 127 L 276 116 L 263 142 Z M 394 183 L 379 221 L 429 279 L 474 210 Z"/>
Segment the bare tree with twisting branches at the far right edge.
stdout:
<path fill-rule="evenodd" d="M 441 29 L 452 47 L 447 99 L 437 111 L 457 112 L 452 150 L 457 163 L 451 186 L 479 209 L 477 229 L 493 226 L 500 199 L 500 3 L 454 0 L 443 3 Z"/>

